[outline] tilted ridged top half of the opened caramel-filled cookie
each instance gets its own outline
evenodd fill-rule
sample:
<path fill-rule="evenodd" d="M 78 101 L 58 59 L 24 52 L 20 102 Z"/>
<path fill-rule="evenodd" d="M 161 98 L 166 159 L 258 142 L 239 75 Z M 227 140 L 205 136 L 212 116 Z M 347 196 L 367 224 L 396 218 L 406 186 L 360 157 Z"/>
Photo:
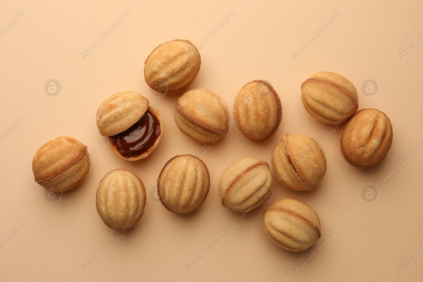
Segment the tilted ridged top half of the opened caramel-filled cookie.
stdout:
<path fill-rule="evenodd" d="M 148 99 L 138 93 L 125 91 L 113 94 L 100 104 L 97 127 L 102 136 L 113 136 L 133 126 L 148 109 Z"/>

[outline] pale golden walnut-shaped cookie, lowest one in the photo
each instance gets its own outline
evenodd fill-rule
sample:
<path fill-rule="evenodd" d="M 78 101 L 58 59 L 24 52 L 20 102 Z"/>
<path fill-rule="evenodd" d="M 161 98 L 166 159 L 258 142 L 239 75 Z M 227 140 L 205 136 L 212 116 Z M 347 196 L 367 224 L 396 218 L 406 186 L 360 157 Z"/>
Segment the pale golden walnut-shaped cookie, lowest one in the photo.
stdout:
<path fill-rule="evenodd" d="M 300 252 L 321 236 L 320 219 L 310 206 L 295 199 L 280 199 L 263 212 L 263 229 L 270 241 Z"/>

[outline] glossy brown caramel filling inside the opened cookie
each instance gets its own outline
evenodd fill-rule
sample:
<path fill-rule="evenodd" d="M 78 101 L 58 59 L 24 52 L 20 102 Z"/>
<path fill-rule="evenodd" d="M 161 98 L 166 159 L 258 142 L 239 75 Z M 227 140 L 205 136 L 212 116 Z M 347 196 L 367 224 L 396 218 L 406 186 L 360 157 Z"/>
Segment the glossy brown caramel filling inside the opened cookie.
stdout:
<path fill-rule="evenodd" d="M 137 157 L 153 148 L 160 135 L 160 121 L 150 111 L 124 132 L 110 136 L 110 142 L 125 158 Z"/>

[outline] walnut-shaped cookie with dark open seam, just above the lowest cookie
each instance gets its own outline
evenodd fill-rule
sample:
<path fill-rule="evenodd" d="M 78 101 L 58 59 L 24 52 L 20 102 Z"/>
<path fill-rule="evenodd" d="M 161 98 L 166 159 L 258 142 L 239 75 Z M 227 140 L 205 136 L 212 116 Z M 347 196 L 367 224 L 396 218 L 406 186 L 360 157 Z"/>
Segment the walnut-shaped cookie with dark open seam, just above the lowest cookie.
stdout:
<path fill-rule="evenodd" d="M 314 189 L 326 173 L 326 158 L 316 140 L 305 134 L 283 134 L 272 152 L 277 179 L 296 191 Z"/>

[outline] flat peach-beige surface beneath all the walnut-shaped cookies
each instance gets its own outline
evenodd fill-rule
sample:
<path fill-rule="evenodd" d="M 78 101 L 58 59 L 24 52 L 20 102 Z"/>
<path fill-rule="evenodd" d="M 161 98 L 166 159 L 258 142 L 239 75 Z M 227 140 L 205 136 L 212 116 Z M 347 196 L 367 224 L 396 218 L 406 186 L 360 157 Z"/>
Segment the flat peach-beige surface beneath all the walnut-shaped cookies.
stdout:
<path fill-rule="evenodd" d="M 19 11 L 25 13 L 17 26 L 9 26 L 0 38 L 0 134 L 7 135 L 0 144 L 0 240 L 10 239 L 0 250 L 2 281 L 420 281 L 421 1 L 31 2 L 3 1 L 0 11 L 0 27 L 6 30 Z M 130 16 L 122 21 L 123 26 L 116 26 L 106 38 L 102 32 L 125 11 Z M 236 15 L 229 25 L 220 26 L 212 38 L 209 32 L 219 28 L 231 11 Z M 342 16 L 317 38 L 313 32 L 337 11 Z M 104 42 L 83 58 L 81 52 L 99 37 Z M 205 37 L 200 72 L 182 93 L 206 88 L 222 97 L 233 117 L 233 100 L 239 89 L 254 79 L 267 79 L 280 96 L 283 116 L 268 140 L 251 141 L 233 124 L 228 134 L 198 153 L 210 170 L 211 189 L 197 211 L 181 217 L 154 201 L 150 192 L 153 189 L 154 193 L 157 176 L 170 158 L 200 152 L 204 145 L 182 134 L 173 120 L 174 101 L 182 93 L 154 96 L 142 70 L 157 45 L 176 38 L 200 44 Z M 310 46 L 311 37 L 315 39 L 311 47 L 303 47 L 305 52 L 294 58 L 293 52 L 302 44 Z M 408 55 L 402 51 L 406 47 Z M 339 152 L 343 124 L 330 128 L 305 111 L 300 85 L 318 71 L 333 71 L 350 79 L 359 94 L 359 109 L 376 108 L 390 118 L 393 144 L 376 167 L 349 166 Z M 49 79 L 60 82 L 59 95 L 45 93 Z M 375 96 L 362 92 L 367 79 L 379 85 Z M 147 97 L 165 122 L 156 150 L 130 164 L 112 153 L 96 128 L 99 104 L 121 91 Z M 20 117 L 25 121 L 12 126 Z M 15 132 L 8 131 L 11 126 Z M 317 188 L 291 191 L 277 182 L 272 171 L 274 195 L 269 203 L 247 214 L 224 208 L 217 190 L 223 170 L 245 156 L 270 164 L 272 149 L 284 133 L 304 133 L 316 139 L 323 136 L 320 145 L 327 158 L 327 172 Z M 88 146 L 91 169 L 79 186 L 51 203 L 44 188 L 33 180 L 31 162 L 41 145 L 62 135 Z M 95 205 L 100 179 L 116 168 L 138 173 L 147 189 L 140 222 L 119 234 L 104 225 Z M 379 191 L 372 203 L 362 197 L 367 185 Z M 319 214 L 322 235 L 329 239 L 320 249 L 314 246 L 313 255 L 311 249 L 288 252 L 264 234 L 263 210 L 283 197 L 301 200 Z M 229 237 L 222 237 L 212 249 L 208 244 L 231 223 L 236 227 Z M 342 227 L 329 237 L 337 223 Z M 24 227 L 12 232 L 19 224 Z M 11 234 L 15 238 L 7 237 Z M 103 244 L 113 236 L 116 241 L 106 249 Z M 103 254 L 88 265 L 85 260 L 99 249 Z M 196 256 L 205 249 L 208 255 L 200 261 Z M 303 255 L 309 259 L 301 265 L 298 260 Z M 407 264 L 403 260 L 408 260 Z M 191 268 L 187 266 L 190 263 Z"/>

